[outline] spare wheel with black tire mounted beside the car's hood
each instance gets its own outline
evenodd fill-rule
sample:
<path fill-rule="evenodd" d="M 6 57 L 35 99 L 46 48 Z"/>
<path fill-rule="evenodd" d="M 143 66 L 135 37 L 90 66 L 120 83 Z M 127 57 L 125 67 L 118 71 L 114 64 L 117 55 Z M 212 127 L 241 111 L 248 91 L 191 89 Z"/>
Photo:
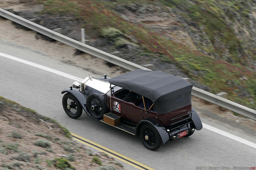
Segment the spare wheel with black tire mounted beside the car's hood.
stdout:
<path fill-rule="evenodd" d="M 104 96 L 99 93 L 92 93 L 87 97 L 86 107 L 93 117 L 100 120 L 108 112 Z"/>

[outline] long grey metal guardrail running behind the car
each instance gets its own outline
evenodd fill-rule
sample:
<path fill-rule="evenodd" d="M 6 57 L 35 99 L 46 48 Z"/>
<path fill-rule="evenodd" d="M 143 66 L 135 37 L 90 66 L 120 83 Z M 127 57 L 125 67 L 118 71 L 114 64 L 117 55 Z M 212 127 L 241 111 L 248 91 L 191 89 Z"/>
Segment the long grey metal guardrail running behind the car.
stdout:
<path fill-rule="evenodd" d="M 36 32 L 39 32 L 41 34 L 44 34 L 54 40 L 57 40 L 59 42 L 62 42 L 64 44 L 67 44 L 71 47 L 74 47 L 76 49 L 79 49 L 85 53 L 88 53 L 90 55 L 93 55 L 95 57 L 101 58 L 105 61 L 108 61 L 110 63 L 113 63 L 117 66 L 123 67 L 128 70 L 136 70 L 136 69 L 143 69 L 143 70 L 150 70 L 145 67 L 139 66 L 137 64 L 134 64 L 130 61 L 124 60 L 122 58 L 116 57 L 112 54 L 106 53 L 104 51 L 101 51 L 97 48 L 91 47 L 89 45 L 83 44 L 79 41 L 73 40 L 72 38 L 66 37 L 64 35 L 61 35 L 55 31 L 52 31 L 50 29 L 47 29 L 45 27 L 42 27 L 41 25 L 38 25 L 34 22 L 28 21 L 22 17 L 19 17 L 17 15 L 12 14 L 11 12 L 8 12 L 4 9 L 0 8 L 0 16 L 12 20 L 20 25 L 23 25 L 31 30 L 34 30 Z M 256 110 L 247 108 L 245 106 L 242 106 L 241 104 L 237 104 L 235 102 L 232 102 L 230 100 L 224 99 L 222 97 L 219 97 L 217 95 L 214 95 L 212 93 L 209 93 L 207 91 L 201 90 L 199 88 L 193 87 L 192 93 L 193 96 L 199 97 L 203 100 L 209 101 L 213 104 L 216 104 L 218 106 L 221 106 L 223 108 L 229 109 L 233 112 L 239 113 L 241 115 L 244 115 L 246 117 L 249 117 L 256 121 Z"/>

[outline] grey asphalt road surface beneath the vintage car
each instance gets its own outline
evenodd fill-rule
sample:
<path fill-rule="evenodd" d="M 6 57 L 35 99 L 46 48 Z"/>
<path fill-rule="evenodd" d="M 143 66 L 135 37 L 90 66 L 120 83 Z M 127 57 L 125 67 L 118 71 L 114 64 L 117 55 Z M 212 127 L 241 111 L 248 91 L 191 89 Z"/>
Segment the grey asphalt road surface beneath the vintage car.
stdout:
<path fill-rule="evenodd" d="M 59 70 L 84 79 L 88 72 L 60 62 L 33 49 L 17 46 L 0 39 L 0 52 L 33 63 Z M 106 73 L 110 73 L 107 70 Z M 100 77 L 101 75 L 92 75 Z M 180 138 L 162 145 L 156 151 L 147 150 L 139 137 L 91 119 L 83 112 L 79 119 L 69 118 L 63 111 L 61 91 L 74 80 L 27 64 L 0 56 L 0 96 L 34 109 L 38 113 L 58 120 L 70 132 L 121 153 L 157 170 L 197 169 L 211 167 L 254 167 L 256 149 L 209 129 L 196 131 L 188 138 Z M 193 104 L 193 103 L 192 103 Z M 196 110 L 196 108 L 195 108 Z M 200 112 L 200 111 L 199 111 Z M 239 129 L 223 126 L 201 118 L 207 125 L 256 143 L 256 137 Z M 135 169 L 127 166 L 127 169 Z"/>

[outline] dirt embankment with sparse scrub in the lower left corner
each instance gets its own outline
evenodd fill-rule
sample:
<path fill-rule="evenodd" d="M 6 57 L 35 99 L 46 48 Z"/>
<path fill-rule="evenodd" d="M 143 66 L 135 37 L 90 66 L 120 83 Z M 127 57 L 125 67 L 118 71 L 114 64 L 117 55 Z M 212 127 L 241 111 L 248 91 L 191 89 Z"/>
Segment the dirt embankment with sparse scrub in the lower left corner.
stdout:
<path fill-rule="evenodd" d="M 69 139 L 54 120 L 0 97 L 0 168 L 115 170 L 122 165 Z"/>

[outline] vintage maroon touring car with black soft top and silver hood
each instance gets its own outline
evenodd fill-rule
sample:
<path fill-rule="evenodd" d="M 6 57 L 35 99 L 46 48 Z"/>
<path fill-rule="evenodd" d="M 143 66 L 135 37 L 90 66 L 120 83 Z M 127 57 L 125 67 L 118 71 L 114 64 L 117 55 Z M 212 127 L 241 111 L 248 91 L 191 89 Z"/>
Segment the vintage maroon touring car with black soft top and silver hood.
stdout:
<path fill-rule="evenodd" d="M 134 70 L 114 78 L 86 77 L 74 82 L 62 98 L 73 119 L 84 110 L 90 117 L 133 135 L 150 150 L 187 137 L 202 128 L 191 107 L 193 85 L 161 71 Z"/>

